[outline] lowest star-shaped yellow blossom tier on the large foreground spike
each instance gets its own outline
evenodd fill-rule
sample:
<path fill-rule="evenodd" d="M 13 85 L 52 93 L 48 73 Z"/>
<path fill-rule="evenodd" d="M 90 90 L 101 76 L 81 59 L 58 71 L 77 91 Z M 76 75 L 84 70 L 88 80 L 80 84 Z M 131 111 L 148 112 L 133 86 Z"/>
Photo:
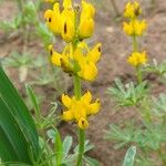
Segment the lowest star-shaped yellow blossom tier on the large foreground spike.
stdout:
<path fill-rule="evenodd" d="M 69 97 L 62 95 L 62 103 L 65 110 L 62 114 L 62 120 L 70 122 L 74 121 L 79 127 L 86 129 L 89 127 L 87 116 L 94 115 L 100 111 L 101 102 L 97 98 L 94 103 L 92 102 L 92 94 L 87 91 L 80 100 L 75 96 Z"/>

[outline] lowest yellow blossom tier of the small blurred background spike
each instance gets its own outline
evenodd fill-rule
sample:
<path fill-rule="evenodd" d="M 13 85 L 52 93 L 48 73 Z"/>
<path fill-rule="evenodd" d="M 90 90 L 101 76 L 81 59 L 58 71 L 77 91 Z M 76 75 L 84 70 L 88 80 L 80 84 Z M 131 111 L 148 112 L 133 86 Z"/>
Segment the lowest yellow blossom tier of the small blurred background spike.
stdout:
<path fill-rule="evenodd" d="M 127 62 L 134 66 L 145 64 L 147 62 L 146 52 L 133 52 L 132 55 L 128 56 Z"/>

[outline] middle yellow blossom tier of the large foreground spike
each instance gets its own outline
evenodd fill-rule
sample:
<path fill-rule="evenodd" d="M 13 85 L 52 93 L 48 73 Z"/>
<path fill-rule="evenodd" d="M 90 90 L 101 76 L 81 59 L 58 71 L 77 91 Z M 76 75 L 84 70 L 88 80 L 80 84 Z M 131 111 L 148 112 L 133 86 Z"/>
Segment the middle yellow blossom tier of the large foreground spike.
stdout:
<path fill-rule="evenodd" d="M 74 51 L 72 44 L 68 44 L 62 54 L 53 51 L 52 45 L 50 45 L 49 51 L 52 63 L 61 66 L 65 72 L 76 73 L 87 81 L 93 81 L 96 77 L 96 63 L 101 58 L 101 43 L 90 50 L 84 42 L 81 42 Z"/>

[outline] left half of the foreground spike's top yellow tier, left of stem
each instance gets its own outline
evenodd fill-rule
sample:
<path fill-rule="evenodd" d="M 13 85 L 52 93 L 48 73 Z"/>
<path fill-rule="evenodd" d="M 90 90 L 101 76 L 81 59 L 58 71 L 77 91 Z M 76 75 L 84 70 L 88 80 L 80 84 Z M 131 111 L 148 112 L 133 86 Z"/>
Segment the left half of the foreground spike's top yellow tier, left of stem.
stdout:
<path fill-rule="evenodd" d="M 44 18 L 48 20 L 46 24 L 53 33 L 62 35 L 66 42 L 70 42 L 75 35 L 75 15 L 71 0 L 64 0 L 63 6 L 64 9 L 61 12 L 60 3 L 55 2 L 53 10 L 45 11 Z"/>

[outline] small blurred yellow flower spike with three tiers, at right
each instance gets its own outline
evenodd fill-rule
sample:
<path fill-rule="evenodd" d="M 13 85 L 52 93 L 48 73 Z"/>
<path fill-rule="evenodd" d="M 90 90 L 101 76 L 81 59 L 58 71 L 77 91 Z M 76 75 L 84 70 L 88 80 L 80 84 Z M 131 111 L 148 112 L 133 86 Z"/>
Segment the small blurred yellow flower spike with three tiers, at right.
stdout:
<path fill-rule="evenodd" d="M 142 14 L 142 9 L 137 1 L 128 2 L 124 10 L 124 17 L 129 21 L 123 23 L 124 32 L 133 38 L 134 50 L 133 53 L 128 56 L 127 62 L 133 66 L 139 66 L 147 62 L 146 52 L 138 52 L 137 48 L 137 37 L 143 35 L 144 31 L 147 28 L 145 20 L 139 20 L 138 17 Z"/>

